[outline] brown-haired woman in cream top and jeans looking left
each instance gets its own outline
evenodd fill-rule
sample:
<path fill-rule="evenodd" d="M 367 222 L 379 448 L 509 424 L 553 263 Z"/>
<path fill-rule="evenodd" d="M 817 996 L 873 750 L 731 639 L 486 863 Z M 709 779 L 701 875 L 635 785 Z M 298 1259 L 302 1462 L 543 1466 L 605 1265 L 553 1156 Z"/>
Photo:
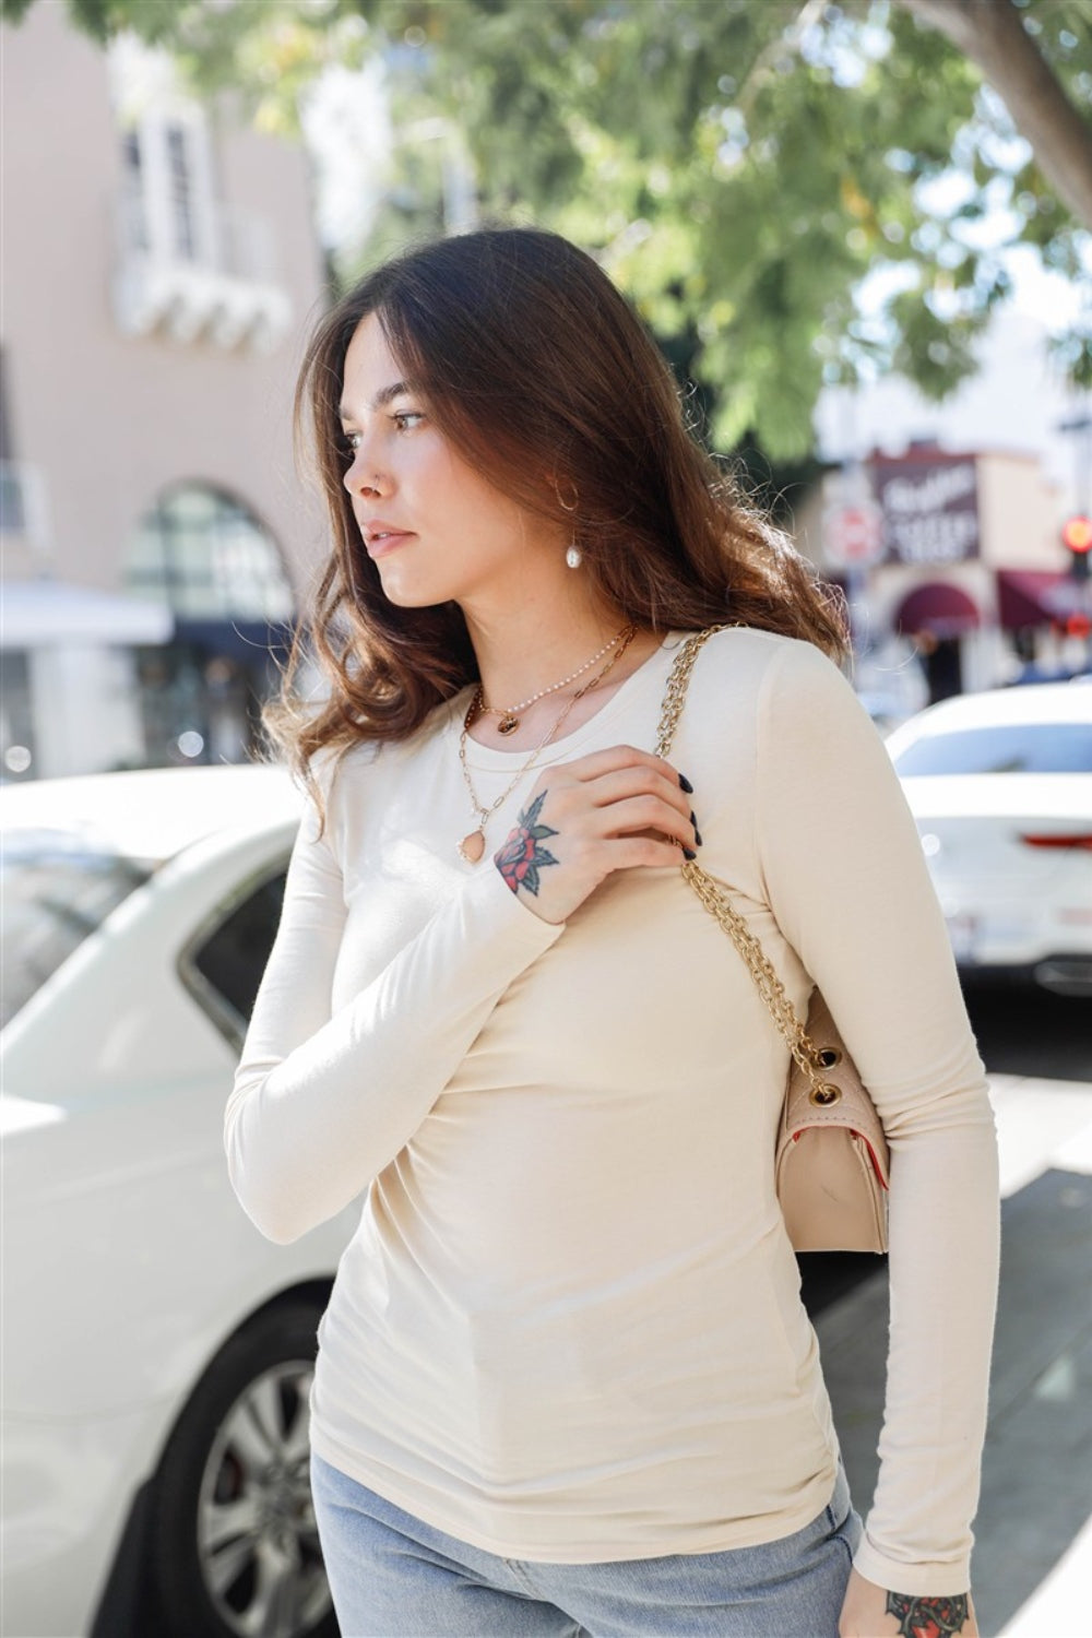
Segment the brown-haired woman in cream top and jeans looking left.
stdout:
<path fill-rule="evenodd" d="M 226 1142 L 273 1240 L 367 1191 L 311 1422 L 344 1638 L 972 1635 L 992 1120 L 837 611 L 552 234 L 378 269 L 298 408 L 332 688 L 278 716 L 311 801 Z M 891 1140 L 863 1528 L 774 1196 L 787 1052 L 697 850 Z"/>

